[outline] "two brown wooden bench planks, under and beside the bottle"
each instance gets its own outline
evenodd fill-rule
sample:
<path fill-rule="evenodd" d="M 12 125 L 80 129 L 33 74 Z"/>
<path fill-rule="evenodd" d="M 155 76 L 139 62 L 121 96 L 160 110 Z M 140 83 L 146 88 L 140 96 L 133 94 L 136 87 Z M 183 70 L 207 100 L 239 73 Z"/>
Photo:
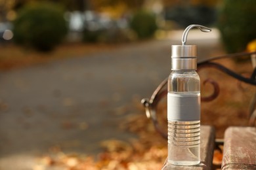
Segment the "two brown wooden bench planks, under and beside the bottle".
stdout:
<path fill-rule="evenodd" d="M 176 166 L 165 161 L 162 170 L 211 170 L 215 130 L 211 126 L 201 126 L 201 163 L 195 166 Z M 224 134 L 223 170 L 256 169 L 256 128 L 228 127 Z"/>

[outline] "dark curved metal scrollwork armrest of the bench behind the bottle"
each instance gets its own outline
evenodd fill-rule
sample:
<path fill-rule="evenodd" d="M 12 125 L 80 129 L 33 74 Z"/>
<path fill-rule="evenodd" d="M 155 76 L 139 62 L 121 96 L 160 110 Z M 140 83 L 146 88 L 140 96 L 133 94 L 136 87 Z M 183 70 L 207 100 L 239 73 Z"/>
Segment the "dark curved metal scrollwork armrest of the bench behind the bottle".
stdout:
<path fill-rule="evenodd" d="M 253 70 L 253 73 L 249 78 L 239 75 L 238 73 L 224 67 L 223 65 L 219 63 L 213 62 L 217 59 L 222 58 L 237 58 L 241 56 L 252 56 L 256 55 L 256 52 L 242 52 L 242 53 L 236 53 L 236 54 L 227 54 L 224 56 L 217 56 L 214 58 L 205 59 L 204 61 L 198 62 L 198 71 L 200 69 L 203 69 L 204 67 L 213 67 L 215 69 L 219 69 L 223 73 L 226 73 L 229 76 L 232 76 L 233 78 L 236 78 L 242 82 L 245 82 L 247 84 L 256 85 L 256 67 Z M 163 80 L 163 82 L 160 83 L 160 85 L 156 88 L 150 99 L 142 99 L 141 103 L 144 105 L 144 108 L 146 110 L 146 116 L 147 118 L 150 118 L 154 124 L 154 127 L 156 128 L 156 131 L 158 131 L 162 137 L 167 139 L 167 134 L 161 129 L 160 124 L 157 120 L 157 106 L 158 103 L 163 99 L 163 97 L 166 97 L 167 95 L 167 79 Z M 201 101 L 212 101 L 219 95 L 219 85 L 215 80 L 212 80 L 208 78 L 203 82 L 203 84 L 210 83 L 213 85 L 213 93 L 207 97 L 202 97 Z M 254 126 L 256 122 L 256 93 L 253 95 L 253 99 L 251 101 L 251 105 L 249 108 L 249 125 Z"/>

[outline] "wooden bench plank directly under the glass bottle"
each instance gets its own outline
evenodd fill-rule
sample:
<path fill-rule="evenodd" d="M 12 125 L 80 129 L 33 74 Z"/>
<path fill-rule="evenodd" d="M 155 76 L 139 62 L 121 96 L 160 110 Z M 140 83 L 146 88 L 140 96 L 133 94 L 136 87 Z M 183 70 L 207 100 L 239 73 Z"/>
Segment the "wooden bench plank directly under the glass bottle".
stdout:
<path fill-rule="evenodd" d="M 215 146 L 215 129 L 211 126 L 201 126 L 200 128 L 200 159 L 201 163 L 195 166 L 177 166 L 171 165 L 165 161 L 162 170 L 170 169 L 193 169 L 193 170 L 202 170 L 202 169 L 211 169 L 213 161 L 213 150 Z"/>

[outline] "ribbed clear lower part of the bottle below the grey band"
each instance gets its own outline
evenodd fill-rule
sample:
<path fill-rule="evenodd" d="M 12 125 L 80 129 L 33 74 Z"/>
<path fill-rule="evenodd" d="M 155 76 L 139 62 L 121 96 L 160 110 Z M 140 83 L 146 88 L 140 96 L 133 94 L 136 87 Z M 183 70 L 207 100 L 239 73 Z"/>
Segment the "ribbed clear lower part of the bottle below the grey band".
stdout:
<path fill-rule="evenodd" d="M 200 163 L 200 121 L 168 121 L 168 162 L 173 165 Z"/>

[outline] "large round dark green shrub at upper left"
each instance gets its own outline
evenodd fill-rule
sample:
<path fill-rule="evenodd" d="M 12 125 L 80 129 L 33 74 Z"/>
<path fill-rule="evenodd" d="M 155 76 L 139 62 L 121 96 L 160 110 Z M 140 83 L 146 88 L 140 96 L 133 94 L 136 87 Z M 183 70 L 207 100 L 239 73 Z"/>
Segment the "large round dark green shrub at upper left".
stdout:
<path fill-rule="evenodd" d="M 53 3 L 26 5 L 14 20 L 14 41 L 40 51 L 53 50 L 67 31 L 62 9 Z"/>

